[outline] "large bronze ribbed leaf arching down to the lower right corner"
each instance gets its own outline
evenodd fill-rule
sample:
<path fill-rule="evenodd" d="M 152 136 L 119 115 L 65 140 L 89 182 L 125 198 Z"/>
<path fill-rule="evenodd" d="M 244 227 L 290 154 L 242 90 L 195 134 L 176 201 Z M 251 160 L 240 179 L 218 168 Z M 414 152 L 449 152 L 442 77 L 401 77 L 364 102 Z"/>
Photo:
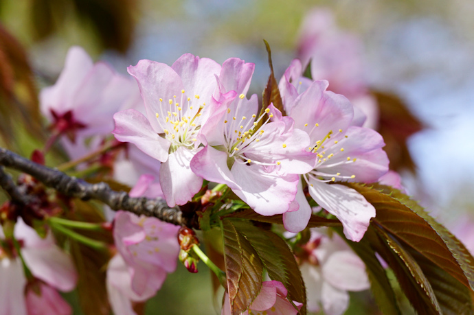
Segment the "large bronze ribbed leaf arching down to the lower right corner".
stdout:
<path fill-rule="evenodd" d="M 368 237 L 422 314 L 473 313 L 473 257 L 447 229 L 391 187 L 347 184 L 374 205 Z M 373 231 L 378 235 L 371 236 Z M 365 238 L 364 237 L 364 238 Z"/>

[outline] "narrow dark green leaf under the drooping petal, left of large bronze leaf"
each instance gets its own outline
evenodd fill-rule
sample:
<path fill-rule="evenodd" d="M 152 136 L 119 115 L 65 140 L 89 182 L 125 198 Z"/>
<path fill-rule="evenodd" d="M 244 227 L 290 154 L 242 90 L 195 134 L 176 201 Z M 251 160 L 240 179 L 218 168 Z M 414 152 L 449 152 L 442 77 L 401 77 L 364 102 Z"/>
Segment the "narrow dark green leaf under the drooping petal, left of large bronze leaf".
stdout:
<path fill-rule="evenodd" d="M 379 259 L 375 255 L 375 250 L 370 246 L 368 241 L 368 235 L 373 232 L 372 230 L 365 233 L 365 237 L 360 242 L 352 242 L 347 240 L 343 235 L 341 228 L 333 228 L 337 233 L 346 240 L 347 244 L 354 250 L 364 262 L 366 266 L 367 275 L 370 281 L 370 289 L 374 295 L 375 301 L 382 312 L 385 315 L 397 315 L 400 314 L 396 296 L 390 281 L 385 273 L 385 269 L 381 265 Z"/>

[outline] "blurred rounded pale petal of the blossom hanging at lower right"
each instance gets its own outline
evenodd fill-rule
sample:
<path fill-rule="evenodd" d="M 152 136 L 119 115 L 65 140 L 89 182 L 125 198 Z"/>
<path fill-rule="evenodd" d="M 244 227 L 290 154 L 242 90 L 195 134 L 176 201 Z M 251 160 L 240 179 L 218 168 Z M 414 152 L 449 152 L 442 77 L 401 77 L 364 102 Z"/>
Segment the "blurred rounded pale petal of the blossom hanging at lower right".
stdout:
<path fill-rule="evenodd" d="M 362 291 L 370 288 L 365 264 L 350 250 L 333 253 L 322 266 L 324 279 L 334 288 L 345 291 Z"/>

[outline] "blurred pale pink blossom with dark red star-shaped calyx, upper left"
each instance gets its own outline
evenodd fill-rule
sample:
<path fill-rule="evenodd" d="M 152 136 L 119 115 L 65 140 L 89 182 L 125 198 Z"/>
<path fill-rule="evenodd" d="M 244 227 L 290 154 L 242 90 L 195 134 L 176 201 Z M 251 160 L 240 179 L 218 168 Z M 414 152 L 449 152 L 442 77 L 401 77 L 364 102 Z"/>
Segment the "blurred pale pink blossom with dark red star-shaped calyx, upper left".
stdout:
<path fill-rule="evenodd" d="M 137 84 L 104 62 L 95 64 L 81 47 L 67 52 L 65 67 L 56 84 L 40 93 L 41 113 L 52 130 L 85 138 L 113 130 L 113 114 L 139 101 Z"/>

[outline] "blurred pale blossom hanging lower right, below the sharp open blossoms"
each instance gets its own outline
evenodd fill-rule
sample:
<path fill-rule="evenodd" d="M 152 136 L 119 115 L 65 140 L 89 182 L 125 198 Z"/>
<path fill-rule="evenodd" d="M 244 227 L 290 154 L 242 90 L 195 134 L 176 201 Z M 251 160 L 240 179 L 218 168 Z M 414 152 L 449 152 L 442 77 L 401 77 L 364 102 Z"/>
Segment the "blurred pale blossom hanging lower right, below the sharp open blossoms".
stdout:
<path fill-rule="evenodd" d="M 365 264 L 338 235 L 311 229 L 311 238 L 300 250 L 300 269 L 306 285 L 308 311 L 341 315 L 349 306 L 348 291 L 370 288 Z"/>

